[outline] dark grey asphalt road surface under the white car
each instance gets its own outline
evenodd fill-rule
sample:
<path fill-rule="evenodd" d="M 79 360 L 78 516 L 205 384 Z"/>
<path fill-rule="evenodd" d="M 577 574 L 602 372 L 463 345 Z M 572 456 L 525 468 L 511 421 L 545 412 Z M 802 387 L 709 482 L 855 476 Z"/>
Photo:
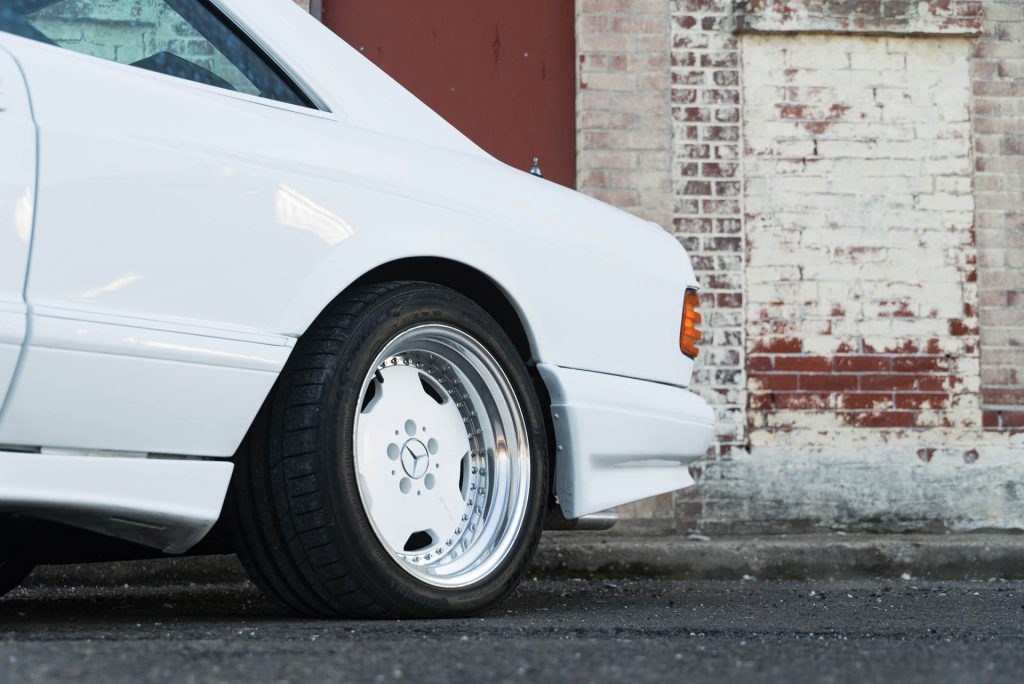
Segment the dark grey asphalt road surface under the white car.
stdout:
<path fill-rule="evenodd" d="M 2 682 L 1020 682 L 1024 582 L 529 578 L 446 622 L 295 618 L 233 559 L 43 568 Z"/>

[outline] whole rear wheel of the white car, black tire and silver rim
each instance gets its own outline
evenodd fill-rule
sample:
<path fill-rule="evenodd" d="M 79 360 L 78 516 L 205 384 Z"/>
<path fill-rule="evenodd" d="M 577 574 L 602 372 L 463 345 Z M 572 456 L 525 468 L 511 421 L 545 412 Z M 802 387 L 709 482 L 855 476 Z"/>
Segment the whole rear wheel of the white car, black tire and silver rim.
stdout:
<path fill-rule="evenodd" d="M 547 448 L 529 372 L 482 308 L 362 287 L 299 340 L 240 448 L 237 550 L 302 614 L 475 614 L 537 549 Z"/>

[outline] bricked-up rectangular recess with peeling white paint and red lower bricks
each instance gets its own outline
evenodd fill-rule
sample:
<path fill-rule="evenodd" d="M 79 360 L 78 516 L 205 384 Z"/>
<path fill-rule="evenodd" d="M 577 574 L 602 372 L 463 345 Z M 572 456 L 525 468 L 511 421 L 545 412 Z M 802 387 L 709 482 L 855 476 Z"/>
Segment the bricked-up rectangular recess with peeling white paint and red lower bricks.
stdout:
<path fill-rule="evenodd" d="M 969 54 L 744 39 L 752 428 L 978 426 Z"/>

